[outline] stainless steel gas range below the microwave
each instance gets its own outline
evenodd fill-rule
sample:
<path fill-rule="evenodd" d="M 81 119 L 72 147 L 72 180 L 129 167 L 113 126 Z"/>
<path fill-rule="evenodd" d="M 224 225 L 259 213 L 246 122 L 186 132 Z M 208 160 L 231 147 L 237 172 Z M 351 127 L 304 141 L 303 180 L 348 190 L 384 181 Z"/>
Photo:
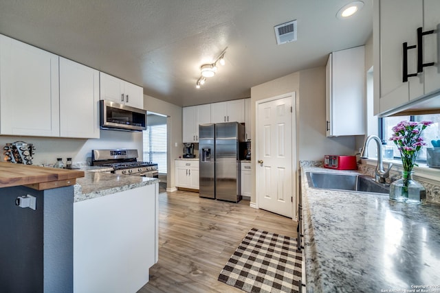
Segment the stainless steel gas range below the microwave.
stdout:
<path fill-rule="evenodd" d="M 159 178 L 157 164 L 137 161 L 137 150 L 92 150 L 91 165 L 112 167 L 113 174 Z"/>

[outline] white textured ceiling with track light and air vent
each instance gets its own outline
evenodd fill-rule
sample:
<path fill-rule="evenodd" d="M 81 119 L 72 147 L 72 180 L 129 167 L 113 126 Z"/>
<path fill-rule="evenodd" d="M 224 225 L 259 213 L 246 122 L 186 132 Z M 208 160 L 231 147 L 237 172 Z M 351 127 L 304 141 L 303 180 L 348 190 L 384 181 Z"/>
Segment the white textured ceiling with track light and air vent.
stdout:
<path fill-rule="evenodd" d="M 250 97 L 250 88 L 325 65 L 364 45 L 372 0 L 351 19 L 347 0 L 0 0 L 0 33 L 144 87 L 179 106 Z M 298 20 L 298 40 L 276 45 L 274 26 Z M 228 48 L 201 89 L 200 66 Z"/>

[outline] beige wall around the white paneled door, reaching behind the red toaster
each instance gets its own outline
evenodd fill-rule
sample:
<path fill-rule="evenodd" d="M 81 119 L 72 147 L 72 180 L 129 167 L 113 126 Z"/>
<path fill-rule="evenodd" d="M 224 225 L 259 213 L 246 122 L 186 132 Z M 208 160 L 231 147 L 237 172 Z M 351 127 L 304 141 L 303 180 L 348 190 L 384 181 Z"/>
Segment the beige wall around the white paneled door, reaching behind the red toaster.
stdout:
<path fill-rule="evenodd" d="M 252 137 L 255 137 L 256 102 L 296 92 L 296 145 L 298 161 L 322 161 L 325 154 L 354 154 L 354 137 L 325 135 L 325 67 L 316 67 L 277 78 L 251 89 Z M 255 143 L 255 142 L 253 142 Z M 252 152 L 252 196 L 256 202 L 256 153 Z"/>

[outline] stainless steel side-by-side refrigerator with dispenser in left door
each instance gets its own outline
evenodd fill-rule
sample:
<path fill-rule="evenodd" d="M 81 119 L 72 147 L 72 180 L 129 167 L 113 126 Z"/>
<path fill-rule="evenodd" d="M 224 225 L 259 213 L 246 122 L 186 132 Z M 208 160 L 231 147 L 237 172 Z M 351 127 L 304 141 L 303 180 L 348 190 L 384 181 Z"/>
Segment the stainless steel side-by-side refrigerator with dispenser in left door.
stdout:
<path fill-rule="evenodd" d="M 236 122 L 199 126 L 199 196 L 239 202 L 244 125 Z"/>

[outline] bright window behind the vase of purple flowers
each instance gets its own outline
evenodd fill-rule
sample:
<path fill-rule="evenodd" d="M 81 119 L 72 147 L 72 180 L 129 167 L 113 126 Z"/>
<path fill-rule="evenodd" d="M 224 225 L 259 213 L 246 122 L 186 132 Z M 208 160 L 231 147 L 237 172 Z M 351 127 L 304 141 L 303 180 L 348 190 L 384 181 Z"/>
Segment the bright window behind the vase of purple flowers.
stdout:
<path fill-rule="evenodd" d="M 426 148 L 432 148 L 431 141 L 440 139 L 440 114 L 429 114 L 429 115 L 415 115 L 415 116 L 396 116 L 396 117 L 384 117 L 381 119 L 382 121 L 382 130 L 380 133 L 382 134 L 382 141 L 386 143 L 388 146 L 393 147 L 393 155 L 395 158 L 400 158 L 399 150 L 397 150 L 396 145 L 389 141 L 389 138 L 393 134 L 393 126 L 398 124 L 400 121 L 404 120 L 410 120 L 410 121 L 432 121 L 434 124 L 428 126 L 425 130 L 423 130 L 423 133 L 421 134 L 421 137 L 426 142 L 426 146 L 423 147 L 419 154 L 417 155 L 417 161 L 426 161 Z"/>

